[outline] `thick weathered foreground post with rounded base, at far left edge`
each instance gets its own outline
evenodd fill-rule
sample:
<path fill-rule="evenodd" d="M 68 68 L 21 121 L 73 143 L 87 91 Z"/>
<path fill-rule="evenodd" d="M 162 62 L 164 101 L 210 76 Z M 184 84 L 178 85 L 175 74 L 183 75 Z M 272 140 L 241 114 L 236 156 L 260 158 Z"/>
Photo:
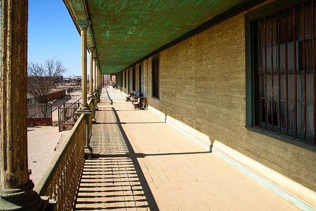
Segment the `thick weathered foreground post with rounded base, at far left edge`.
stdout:
<path fill-rule="evenodd" d="M 28 171 L 28 0 L 1 0 L 1 210 L 40 210 Z"/>

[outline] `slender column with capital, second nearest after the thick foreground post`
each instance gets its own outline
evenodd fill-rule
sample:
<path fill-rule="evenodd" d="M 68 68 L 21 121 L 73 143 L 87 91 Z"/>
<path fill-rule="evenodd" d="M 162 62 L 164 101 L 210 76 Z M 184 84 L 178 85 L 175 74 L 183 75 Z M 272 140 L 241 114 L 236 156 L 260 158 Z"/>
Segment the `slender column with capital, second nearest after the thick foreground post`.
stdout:
<path fill-rule="evenodd" d="M 81 95 L 80 110 L 90 110 L 87 104 L 87 29 L 90 21 L 78 21 L 81 31 Z"/>

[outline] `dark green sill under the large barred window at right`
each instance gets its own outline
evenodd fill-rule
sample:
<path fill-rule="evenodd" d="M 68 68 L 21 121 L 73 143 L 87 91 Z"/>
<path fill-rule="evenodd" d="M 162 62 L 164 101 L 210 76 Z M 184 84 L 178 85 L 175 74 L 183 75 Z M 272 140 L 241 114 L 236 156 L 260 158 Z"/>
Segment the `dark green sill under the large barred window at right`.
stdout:
<path fill-rule="evenodd" d="M 256 132 L 256 133 L 260 133 L 262 135 L 269 136 L 269 137 L 274 138 L 276 140 L 284 141 L 286 143 L 290 143 L 290 144 L 296 145 L 298 147 L 301 147 L 301 148 L 304 148 L 304 149 L 316 152 L 316 146 L 314 146 L 313 144 L 310 144 L 308 142 L 303 142 L 303 141 L 298 141 L 298 140 L 295 140 L 295 139 L 290 139 L 290 138 L 287 138 L 286 136 L 283 136 L 283 135 L 280 135 L 280 134 L 276 134 L 276 133 L 273 133 L 273 132 L 270 132 L 270 131 L 267 131 L 267 130 L 264 130 L 264 129 L 261 129 L 261 128 L 257 128 L 257 127 L 250 127 L 250 126 L 245 126 L 245 127 L 248 130 L 250 130 L 250 131 L 253 131 L 253 132 Z"/>

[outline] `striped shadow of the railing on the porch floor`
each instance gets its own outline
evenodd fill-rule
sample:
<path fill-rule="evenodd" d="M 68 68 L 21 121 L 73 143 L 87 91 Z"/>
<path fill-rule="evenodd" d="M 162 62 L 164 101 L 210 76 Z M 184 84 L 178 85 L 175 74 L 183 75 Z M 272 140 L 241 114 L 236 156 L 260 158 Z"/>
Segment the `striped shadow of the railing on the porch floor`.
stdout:
<path fill-rule="evenodd" d="M 95 128 L 102 130 L 92 130 L 93 156 L 84 163 L 76 210 L 158 210 L 137 161 L 142 155 L 135 153 L 112 110 L 117 122 L 97 124 Z"/>

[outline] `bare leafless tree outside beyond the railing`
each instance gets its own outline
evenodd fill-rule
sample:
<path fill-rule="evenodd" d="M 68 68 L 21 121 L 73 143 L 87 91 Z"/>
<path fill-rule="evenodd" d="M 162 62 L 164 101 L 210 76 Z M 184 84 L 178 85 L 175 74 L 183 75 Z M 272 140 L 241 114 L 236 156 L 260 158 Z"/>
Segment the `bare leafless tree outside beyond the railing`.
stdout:
<path fill-rule="evenodd" d="M 58 77 L 65 73 L 64 62 L 61 60 L 48 59 L 44 64 L 28 63 L 28 92 L 31 93 L 39 103 L 47 103 L 47 95 L 54 87 Z"/>

